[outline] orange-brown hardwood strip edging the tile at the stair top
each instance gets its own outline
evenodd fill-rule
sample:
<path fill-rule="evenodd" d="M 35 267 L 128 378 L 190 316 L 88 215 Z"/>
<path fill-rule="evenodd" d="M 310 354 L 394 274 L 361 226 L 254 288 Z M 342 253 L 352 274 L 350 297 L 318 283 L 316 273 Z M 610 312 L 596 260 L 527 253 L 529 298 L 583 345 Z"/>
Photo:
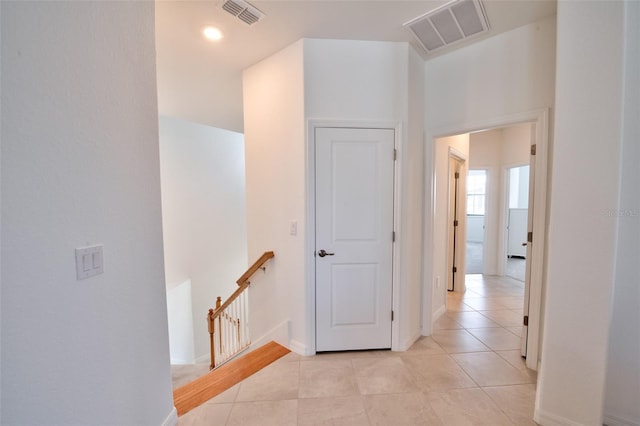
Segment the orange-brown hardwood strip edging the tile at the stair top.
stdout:
<path fill-rule="evenodd" d="M 178 416 L 188 413 L 221 394 L 289 352 L 291 351 L 284 346 L 269 342 L 177 388 L 173 391 L 173 404 L 178 411 Z"/>

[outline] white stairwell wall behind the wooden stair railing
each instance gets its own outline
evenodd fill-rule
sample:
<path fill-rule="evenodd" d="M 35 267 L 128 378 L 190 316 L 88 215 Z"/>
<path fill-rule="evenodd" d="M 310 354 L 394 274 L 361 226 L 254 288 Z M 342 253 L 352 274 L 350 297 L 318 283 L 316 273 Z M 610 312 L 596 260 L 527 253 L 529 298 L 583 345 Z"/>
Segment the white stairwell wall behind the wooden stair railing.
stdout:
<path fill-rule="evenodd" d="M 207 311 L 247 269 L 244 138 L 160 117 L 160 172 L 167 291 L 191 281 L 194 355 L 208 359 Z"/>

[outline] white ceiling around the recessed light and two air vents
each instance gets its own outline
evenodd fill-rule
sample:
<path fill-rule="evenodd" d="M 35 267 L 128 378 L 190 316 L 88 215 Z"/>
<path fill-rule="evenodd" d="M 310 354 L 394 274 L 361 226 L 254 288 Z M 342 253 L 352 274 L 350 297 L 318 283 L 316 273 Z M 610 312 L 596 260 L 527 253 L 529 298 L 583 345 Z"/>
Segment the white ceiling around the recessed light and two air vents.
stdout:
<path fill-rule="evenodd" d="M 266 17 L 249 27 L 222 0 L 156 0 L 158 106 L 161 115 L 243 131 L 242 70 L 300 38 L 411 42 L 426 60 L 556 13 L 555 0 L 483 0 L 490 31 L 431 55 L 403 24 L 447 1 L 250 1 Z M 224 38 L 202 35 L 211 25 Z"/>

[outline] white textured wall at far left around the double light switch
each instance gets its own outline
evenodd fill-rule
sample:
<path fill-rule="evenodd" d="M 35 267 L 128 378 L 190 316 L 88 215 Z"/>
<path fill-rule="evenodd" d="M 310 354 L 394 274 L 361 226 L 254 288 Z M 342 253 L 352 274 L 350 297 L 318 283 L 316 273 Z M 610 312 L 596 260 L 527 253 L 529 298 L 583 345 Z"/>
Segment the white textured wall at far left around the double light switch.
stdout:
<path fill-rule="evenodd" d="M 162 424 L 174 412 L 154 5 L 1 8 L 0 422 Z M 78 281 L 74 249 L 91 243 L 104 274 Z"/>

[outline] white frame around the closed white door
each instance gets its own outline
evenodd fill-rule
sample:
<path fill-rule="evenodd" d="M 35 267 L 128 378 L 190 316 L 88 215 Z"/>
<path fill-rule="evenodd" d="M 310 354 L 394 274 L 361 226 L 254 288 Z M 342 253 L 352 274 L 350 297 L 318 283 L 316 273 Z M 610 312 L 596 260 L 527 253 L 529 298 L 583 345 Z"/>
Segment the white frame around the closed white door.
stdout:
<path fill-rule="evenodd" d="M 314 252 L 316 248 L 315 228 L 316 228 L 316 204 L 315 204 L 315 131 L 319 127 L 336 127 L 336 128 L 355 128 L 355 129 L 392 129 L 394 131 L 394 146 L 395 149 L 400 152 L 400 145 L 402 141 L 402 127 L 400 122 L 395 121 L 368 121 L 368 120 L 331 120 L 331 119 L 308 119 L 307 120 L 307 137 L 306 137 L 306 158 L 307 167 L 305 168 L 305 180 L 307 185 L 307 196 L 305 200 L 305 263 L 306 263 L 306 317 L 307 317 L 307 348 L 306 355 L 313 355 L 316 353 L 316 296 L 315 296 L 315 276 L 316 276 L 316 264 Z M 398 155 L 400 158 L 400 155 Z M 400 214 L 399 206 L 401 197 L 401 162 L 396 161 L 394 167 L 394 185 L 393 185 L 393 229 L 396 233 L 396 237 L 400 234 Z M 399 268 L 398 268 L 398 245 L 396 241 L 393 243 L 393 258 L 391 265 L 393 268 L 392 274 L 392 309 L 394 312 L 400 314 L 398 309 L 399 298 L 398 296 L 398 283 L 399 283 Z M 398 316 L 391 323 L 391 350 L 398 350 L 399 344 L 399 324 Z"/>

